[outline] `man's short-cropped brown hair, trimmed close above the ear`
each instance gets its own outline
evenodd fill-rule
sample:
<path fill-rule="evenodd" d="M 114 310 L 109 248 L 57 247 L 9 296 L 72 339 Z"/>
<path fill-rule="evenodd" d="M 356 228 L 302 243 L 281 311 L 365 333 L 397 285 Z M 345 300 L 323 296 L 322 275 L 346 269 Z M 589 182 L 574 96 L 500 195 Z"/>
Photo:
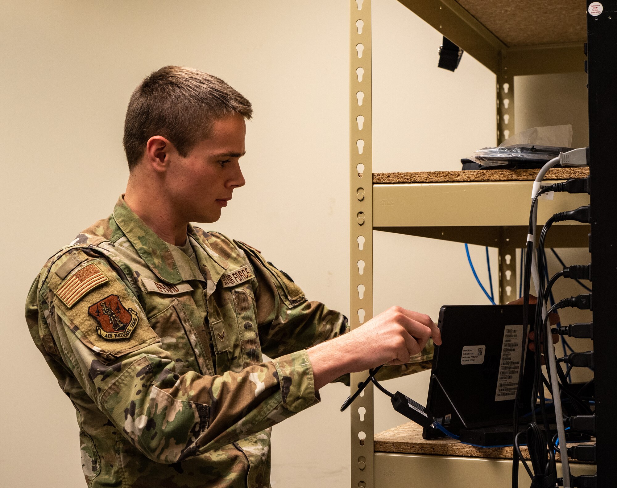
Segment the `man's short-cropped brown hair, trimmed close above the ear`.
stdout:
<path fill-rule="evenodd" d="M 146 76 L 126 109 L 123 145 L 130 171 L 152 136 L 162 136 L 186 157 L 206 139 L 213 123 L 239 114 L 250 119 L 251 102 L 216 76 L 193 68 L 165 66 Z"/>

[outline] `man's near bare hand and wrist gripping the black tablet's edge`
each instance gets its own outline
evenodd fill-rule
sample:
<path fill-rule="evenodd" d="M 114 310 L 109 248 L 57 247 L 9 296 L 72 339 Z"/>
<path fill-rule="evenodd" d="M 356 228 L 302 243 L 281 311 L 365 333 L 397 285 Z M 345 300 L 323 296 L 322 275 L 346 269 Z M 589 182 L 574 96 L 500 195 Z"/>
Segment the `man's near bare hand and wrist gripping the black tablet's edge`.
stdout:
<path fill-rule="evenodd" d="M 346 373 L 407 363 L 410 356 L 422 351 L 431 336 L 439 346 L 441 334 L 431 317 L 391 307 L 360 327 L 307 351 L 315 389 Z"/>

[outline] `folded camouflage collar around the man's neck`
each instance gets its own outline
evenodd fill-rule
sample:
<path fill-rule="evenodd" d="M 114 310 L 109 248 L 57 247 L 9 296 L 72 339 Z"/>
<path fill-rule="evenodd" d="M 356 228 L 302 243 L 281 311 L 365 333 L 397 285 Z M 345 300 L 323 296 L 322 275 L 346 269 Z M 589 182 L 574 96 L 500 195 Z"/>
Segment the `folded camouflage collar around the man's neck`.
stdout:
<path fill-rule="evenodd" d="M 225 259 L 214 253 L 209 246 L 202 242 L 193 226 L 189 224 L 188 234 L 193 237 L 199 246 L 196 251 L 200 270 L 195 269 L 191 259 L 176 246 L 168 245 L 162 238 L 146 225 L 133 212 L 123 195 L 120 195 L 114 208 L 114 220 L 122 229 L 126 238 L 131 242 L 141 259 L 146 262 L 152 272 L 165 283 L 176 285 L 188 280 L 207 281 L 207 288 L 216 287 L 224 270 L 229 267 Z M 195 247 L 195 246 L 194 246 Z M 205 276 L 205 278 L 204 278 Z M 208 290 L 210 292 L 210 290 Z M 210 293 L 209 293 L 210 295 Z"/>

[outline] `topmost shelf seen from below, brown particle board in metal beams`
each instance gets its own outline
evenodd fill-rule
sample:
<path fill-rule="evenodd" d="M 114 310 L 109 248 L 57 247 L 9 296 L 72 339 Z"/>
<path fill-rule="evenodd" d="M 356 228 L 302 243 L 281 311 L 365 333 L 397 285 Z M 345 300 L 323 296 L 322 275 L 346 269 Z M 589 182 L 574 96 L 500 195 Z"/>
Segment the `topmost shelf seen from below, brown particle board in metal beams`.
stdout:
<path fill-rule="evenodd" d="M 574 0 L 399 0 L 494 73 L 582 71 L 586 5 Z"/>

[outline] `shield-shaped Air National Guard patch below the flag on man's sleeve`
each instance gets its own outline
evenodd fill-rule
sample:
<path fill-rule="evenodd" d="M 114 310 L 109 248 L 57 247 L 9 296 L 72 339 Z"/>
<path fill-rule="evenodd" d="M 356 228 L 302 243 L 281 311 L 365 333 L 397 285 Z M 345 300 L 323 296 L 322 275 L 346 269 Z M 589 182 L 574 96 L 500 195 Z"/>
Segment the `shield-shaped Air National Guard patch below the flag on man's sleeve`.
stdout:
<path fill-rule="evenodd" d="M 137 312 L 126 307 L 118 295 L 109 295 L 89 306 L 88 314 L 99 323 L 97 333 L 104 339 L 128 339 L 139 318 Z"/>

